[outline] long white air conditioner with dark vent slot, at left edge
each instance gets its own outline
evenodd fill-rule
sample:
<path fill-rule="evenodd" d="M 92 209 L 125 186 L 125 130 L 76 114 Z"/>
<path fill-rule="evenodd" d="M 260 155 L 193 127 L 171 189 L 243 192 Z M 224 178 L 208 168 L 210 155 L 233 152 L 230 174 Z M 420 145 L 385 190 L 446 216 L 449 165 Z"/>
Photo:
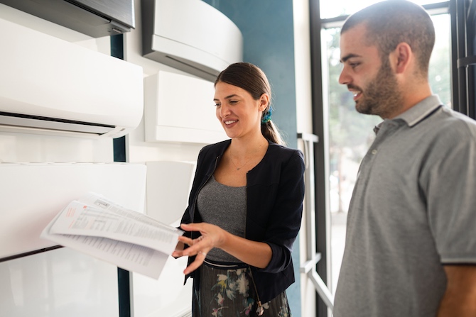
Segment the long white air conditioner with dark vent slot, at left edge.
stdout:
<path fill-rule="evenodd" d="M 144 109 L 142 68 L 0 19 L 0 130 L 117 138 Z"/>

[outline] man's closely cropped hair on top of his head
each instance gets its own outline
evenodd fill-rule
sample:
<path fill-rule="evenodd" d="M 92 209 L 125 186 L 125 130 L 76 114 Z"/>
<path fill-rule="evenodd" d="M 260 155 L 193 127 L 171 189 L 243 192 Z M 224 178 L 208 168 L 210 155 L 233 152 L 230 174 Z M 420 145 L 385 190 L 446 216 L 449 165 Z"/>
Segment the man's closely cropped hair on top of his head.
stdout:
<path fill-rule="evenodd" d="M 407 43 L 418 59 L 421 74 L 428 77 L 435 28 L 422 6 L 406 0 L 382 1 L 352 14 L 340 33 L 362 23 L 367 26 L 366 44 L 377 45 L 382 58 L 399 43 Z"/>

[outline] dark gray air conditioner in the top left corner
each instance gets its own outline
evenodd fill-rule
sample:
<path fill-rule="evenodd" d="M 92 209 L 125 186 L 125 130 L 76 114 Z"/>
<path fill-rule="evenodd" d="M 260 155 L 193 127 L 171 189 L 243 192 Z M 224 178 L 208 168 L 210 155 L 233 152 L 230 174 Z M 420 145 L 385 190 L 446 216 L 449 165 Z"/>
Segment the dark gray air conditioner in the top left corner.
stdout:
<path fill-rule="evenodd" d="M 99 38 L 136 27 L 134 0 L 0 0 L 15 9 Z"/>

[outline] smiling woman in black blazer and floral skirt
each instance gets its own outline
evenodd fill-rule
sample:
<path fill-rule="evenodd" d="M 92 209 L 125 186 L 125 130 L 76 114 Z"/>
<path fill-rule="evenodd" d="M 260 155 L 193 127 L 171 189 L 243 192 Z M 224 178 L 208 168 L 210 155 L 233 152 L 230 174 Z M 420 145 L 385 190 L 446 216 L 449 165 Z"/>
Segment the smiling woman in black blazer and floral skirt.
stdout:
<path fill-rule="evenodd" d="M 294 282 L 303 155 L 280 145 L 271 89 L 258 67 L 229 65 L 215 81 L 214 101 L 231 140 L 200 151 L 186 233 L 173 253 L 189 257 L 193 316 L 291 316 L 285 290 Z"/>

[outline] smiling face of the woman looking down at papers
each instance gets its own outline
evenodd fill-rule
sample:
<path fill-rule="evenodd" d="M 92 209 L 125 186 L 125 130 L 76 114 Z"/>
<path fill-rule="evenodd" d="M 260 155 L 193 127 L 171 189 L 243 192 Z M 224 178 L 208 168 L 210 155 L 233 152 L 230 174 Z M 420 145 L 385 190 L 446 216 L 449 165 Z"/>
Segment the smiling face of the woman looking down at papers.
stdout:
<path fill-rule="evenodd" d="M 261 135 L 261 113 L 269 102 L 267 94 L 262 94 L 260 99 L 254 100 L 248 91 L 218 82 L 213 100 L 217 118 L 229 138 L 242 138 L 254 133 Z"/>

